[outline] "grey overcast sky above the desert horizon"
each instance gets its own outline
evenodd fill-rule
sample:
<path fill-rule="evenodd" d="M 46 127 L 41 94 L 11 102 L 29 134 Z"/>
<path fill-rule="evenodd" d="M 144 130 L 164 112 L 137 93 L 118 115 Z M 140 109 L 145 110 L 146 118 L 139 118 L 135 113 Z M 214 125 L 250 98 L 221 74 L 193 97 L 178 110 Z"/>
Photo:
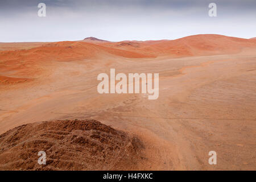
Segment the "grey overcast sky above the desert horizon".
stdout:
<path fill-rule="evenodd" d="M 46 4 L 46 17 L 38 4 Z M 217 17 L 209 17 L 209 3 Z M 256 36 L 255 0 L 1 0 L 0 42 L 177 39 L 195 34 Z"/>

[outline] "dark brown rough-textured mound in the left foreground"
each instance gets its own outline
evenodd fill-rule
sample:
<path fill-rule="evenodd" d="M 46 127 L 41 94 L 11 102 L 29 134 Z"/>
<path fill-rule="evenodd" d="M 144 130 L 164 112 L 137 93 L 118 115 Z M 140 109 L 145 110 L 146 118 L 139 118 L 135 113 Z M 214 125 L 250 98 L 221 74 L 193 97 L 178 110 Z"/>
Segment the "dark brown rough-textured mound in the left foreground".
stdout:
<path fill-rule="evenodd" d="M 0 135 L 0 170 L 134 169 L 142 144 L 95 120 L 36 122 Z M 38 164 L 39 151 L 46 165 Z"/>

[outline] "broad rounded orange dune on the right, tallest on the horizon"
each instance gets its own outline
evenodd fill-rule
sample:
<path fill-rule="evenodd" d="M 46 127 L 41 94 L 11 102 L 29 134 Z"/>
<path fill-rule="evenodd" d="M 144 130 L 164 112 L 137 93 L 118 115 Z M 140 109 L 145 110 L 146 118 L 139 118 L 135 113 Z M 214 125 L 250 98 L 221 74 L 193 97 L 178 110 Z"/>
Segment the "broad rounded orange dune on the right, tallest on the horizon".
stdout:
<path fill-rule="evenodd" d="M 193 35 L 146 46 L 143 50 L 179 57 L 238 53 L 246 47 L 256 47 L 256 42 L 222 35 Z"/>

